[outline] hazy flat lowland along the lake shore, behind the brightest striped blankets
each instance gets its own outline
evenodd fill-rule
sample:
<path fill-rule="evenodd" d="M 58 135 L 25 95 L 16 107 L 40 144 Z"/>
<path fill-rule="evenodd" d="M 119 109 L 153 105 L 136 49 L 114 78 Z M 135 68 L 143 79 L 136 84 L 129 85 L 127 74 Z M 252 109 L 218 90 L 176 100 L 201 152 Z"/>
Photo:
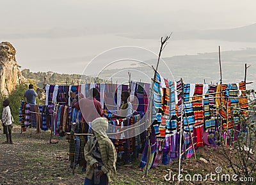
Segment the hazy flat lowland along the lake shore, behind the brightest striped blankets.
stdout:
<path fill-rule="evenodd" d="M 145 61 L 148 66 L 156 66 L 157 59 Z M 220 83 L 220 65 L 218 52 L 173 56 L 163 58 L 163 62 L 159 63 L 158 72 L 169 80 L 178 81 L 180 78 L 184 83 L 216 84 Z M 235 83 L 244 80 L 244 64 L 250 66 L 247 71 L 247 82 L 256 82 L 256 48 L 247 48 L 244 50 L 234 50 L 221 52 L 221 68 L 223 83 Z M 127 69 L 131 72 L 131 80 L 141 82 L 150 82 L 154 77 L 152 68 L 146 65 L 140 65 L 136 70 Z M 169 70 L 169 69 L 170 70 Z M 125 69 L 125 68 L 124 68 Z M 124 70 L 122 69 L 122 70 Z M 105 70 L 101 74 L 101 78 L 109 77 L 116 70 Z M 143 75 L 143 74 L 147 74 Z M 115 78 L 118 82 L 127 80 L 127 75 L 116 74 Z M 114 79 L 114 80 L 116 80 Z M 248 85 L 248 88 L 256 89 L 256 84 Z"/>

